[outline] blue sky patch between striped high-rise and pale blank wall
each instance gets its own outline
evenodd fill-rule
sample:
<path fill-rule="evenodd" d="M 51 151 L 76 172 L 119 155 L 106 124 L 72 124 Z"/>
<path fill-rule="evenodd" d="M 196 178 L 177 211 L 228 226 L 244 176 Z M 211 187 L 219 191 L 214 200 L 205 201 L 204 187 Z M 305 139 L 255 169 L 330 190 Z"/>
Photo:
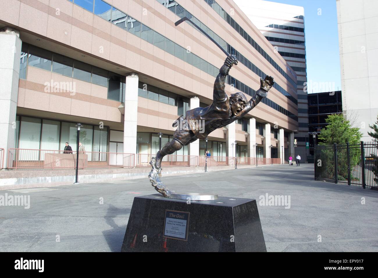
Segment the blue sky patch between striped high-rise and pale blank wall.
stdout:
<path fill-rule="evenodd" d="M 305 9 L 305 40 L 307 80 L 310 82 L 334 82 L 341 90 L 339 34 L 337 27 L 336 0 L 268 0 Z M 321 8 L 321 15 L 318 9 Z M 313 86 L 314 93 L 316 87 Z M 324 92 L 324 90 L 322 90 Z M 311 91 L 309 91 L 311 93 Z"/>

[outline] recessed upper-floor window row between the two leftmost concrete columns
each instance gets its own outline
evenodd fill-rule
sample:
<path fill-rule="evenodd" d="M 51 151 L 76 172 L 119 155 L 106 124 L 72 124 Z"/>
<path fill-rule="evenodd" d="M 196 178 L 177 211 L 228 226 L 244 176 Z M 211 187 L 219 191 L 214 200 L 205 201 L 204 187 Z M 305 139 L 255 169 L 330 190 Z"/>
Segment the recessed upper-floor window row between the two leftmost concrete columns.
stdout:
<path fill-rule="evenodd" d="M 26 79 L 27 66 L 53 71 L 64 76 L 91 82 L 108 88 L 108 99 L 123 102 L 124 76 L 94 67 L 42 48 L 22 43 L 20 78 Z"/>

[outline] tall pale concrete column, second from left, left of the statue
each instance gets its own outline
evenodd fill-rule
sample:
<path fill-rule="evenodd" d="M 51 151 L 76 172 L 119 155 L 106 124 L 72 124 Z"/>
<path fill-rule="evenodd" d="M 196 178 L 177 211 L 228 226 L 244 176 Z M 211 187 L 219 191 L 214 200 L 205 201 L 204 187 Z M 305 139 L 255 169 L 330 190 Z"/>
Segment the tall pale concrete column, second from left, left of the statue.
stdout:
<path fill-rule="evenodd" d="M 138 116 L 138 81 L 136 73 L 126 76 L 125 122 L 123 131 L 123 152 L 135 154 L 136 163 L 136 125 Z"/>

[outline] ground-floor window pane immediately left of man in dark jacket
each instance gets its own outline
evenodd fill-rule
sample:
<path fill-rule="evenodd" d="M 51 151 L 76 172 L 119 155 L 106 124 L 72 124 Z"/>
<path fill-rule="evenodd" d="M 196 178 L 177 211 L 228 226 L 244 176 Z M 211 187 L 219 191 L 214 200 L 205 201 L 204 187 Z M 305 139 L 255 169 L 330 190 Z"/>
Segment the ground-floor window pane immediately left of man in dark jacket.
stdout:
<path fill-rule="evenodd" d="M 59 150 L 60 122 L 43 120 L 42 121 L 42 150 Z"/>

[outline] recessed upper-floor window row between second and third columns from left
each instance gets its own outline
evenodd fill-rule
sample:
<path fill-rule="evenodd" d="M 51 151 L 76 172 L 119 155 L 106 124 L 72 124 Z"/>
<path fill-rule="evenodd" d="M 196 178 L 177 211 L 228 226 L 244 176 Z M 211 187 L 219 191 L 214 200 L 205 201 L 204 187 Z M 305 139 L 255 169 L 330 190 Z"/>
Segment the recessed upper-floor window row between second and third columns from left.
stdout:
<path fill-rule="evenodd" d="M 185 115 L 186 111 L 190 110 L 188 98 L 140 81 L 138 84 L 138 96 L 177 106 L 177 115 Z"/>

